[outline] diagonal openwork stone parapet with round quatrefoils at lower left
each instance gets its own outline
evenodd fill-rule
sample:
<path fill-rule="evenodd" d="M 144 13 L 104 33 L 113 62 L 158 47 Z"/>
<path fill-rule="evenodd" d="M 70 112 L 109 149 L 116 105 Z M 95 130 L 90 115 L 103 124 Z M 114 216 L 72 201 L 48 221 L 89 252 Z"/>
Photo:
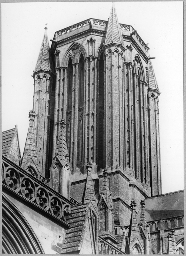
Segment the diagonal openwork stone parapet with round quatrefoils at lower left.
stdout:
<path fill-rule="evenodd" d="M 11 165 L 6 159 L 2 159 L 2 183 L 3 190 L 13 192 L 14 196 L 29 201 L 62 221 L 70 213 L 70 205 L 77 204 L 75 200 L 70 201 L 61 196 L 22 168 Z"/>

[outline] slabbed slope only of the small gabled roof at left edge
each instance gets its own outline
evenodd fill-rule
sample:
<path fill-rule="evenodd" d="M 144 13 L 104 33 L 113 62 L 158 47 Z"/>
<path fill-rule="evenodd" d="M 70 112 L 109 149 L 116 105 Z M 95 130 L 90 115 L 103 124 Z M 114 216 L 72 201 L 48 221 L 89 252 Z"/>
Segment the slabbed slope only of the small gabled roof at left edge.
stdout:
<path fill-rule="evenodd" d="M 15 132 L 16 132 L 16 127 L 2 132 L 2 155 L 3 156 L 7 156 L 11 147 L 11 142 L 14 139 Z"/>

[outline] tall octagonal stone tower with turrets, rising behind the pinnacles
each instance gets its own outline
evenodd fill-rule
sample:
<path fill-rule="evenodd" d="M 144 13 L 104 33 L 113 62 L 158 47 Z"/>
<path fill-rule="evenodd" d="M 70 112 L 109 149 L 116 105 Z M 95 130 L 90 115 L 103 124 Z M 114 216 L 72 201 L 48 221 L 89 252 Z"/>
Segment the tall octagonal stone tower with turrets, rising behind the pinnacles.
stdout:
<path fill-rule="evenodd" d="M 161 194 L 160 93 L 149 48 L 132 26 L 119 24 L 114 4 L 108 22 L 57 31 L 51 49 L 46 31 L 33 74 L 41 175 L 53 179 L 63 120 L 72 197 L 81 202 L 91 162 L 98 200 L 106 168 L 114 221 L 127 225 L 132 200 Z"/>

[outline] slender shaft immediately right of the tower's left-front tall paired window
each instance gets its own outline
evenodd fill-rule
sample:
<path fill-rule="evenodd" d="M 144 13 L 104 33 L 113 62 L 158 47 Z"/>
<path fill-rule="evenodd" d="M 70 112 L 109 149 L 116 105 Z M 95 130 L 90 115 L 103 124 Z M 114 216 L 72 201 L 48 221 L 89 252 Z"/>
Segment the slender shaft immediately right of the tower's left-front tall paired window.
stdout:
<path fill-rule="evenodd" d="M 88 124 L 88 59 L 86 58 L 86 84 L 85 84 L 85 157 L 84 162 L 87 162 L 87 124 Z"/>

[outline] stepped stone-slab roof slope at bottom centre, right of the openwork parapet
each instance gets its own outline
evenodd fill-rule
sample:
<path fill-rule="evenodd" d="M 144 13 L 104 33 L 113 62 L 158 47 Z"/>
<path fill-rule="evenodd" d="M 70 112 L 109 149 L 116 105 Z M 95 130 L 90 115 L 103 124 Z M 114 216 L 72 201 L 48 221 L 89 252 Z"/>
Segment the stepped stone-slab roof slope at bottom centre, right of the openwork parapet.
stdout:
<path fill-rule="evenodd" d="M 70 228 L 65 234 L 61 253 L 65 254 L 80 250 L 79 245 L 82 240 L 86 211 L 87 204 L 71 207 L 71 213 L 66 217 L 66 221 L 70 225 Z"/>

